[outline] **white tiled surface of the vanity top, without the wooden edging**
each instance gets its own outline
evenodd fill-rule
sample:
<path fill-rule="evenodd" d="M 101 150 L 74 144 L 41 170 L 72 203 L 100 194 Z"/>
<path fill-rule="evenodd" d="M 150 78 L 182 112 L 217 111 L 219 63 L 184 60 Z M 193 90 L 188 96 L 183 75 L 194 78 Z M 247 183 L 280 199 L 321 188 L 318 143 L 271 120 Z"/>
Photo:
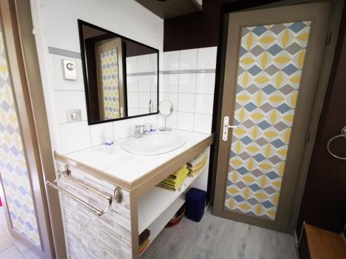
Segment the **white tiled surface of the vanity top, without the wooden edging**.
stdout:
<path fill-rule="evenodd" d="M 150 134 L 160 134 L 160 132 L 157 131 Z M 199 142 L 206 140 L 210 136 L 210 134 L 179 130 L 172 130 L 165 134 L 179 135 L 184 137 L 187 142 L 183 146 L 168 153 L 160 155 L 136 155 L 121 148 L 124 142 L 134 140 L 134 137 L 127 137 L 122 140 L 117 140 L 113 146 L 94 146 L 64 156 L 131 184 L 131 182 L 142 178 L 150 171 L 156 169 L 156 167 L 188 151 L 189 148 L 199 144 Z"/>

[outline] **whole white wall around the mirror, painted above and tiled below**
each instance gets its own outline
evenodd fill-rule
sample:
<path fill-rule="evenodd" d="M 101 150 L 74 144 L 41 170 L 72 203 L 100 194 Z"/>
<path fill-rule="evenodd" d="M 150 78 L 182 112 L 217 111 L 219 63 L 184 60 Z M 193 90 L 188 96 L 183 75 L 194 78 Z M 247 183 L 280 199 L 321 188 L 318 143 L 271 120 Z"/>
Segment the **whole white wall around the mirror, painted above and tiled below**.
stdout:
<path fill-rule="evenodd" d="M 76 61 L 78 79 L 66 81 L 62 77 L 61 60 L 71 58 L 49 54 L 48 46 L 80 52 L 77 19 L 82 19 L 157 48 L 162 66 L 163 19 L 134 0 L 30 0 L 30 3 L 54 151 L 62 154 L 78 151 L 102 144 L 104 131 L 112 131 L 115 139 L 119 139 L 131 135 L 133 124 L 156 123 L 156 116 L 148 116 L 88 126 L 82 62 L 72 59 Z M 66 110 L 72 108 L 82 110 L 82 122 L 66 122 Z"/>

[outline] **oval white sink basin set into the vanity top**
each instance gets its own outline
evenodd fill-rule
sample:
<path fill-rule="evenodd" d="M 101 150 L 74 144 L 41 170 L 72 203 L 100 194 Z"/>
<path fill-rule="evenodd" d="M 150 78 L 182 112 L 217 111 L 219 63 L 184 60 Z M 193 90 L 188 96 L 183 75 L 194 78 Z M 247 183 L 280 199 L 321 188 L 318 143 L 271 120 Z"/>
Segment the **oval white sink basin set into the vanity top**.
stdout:
<path fill-rule="evenodd" d="M 173 151 L 185 143 L 186 140 L 178 135 L 156 133 L 125 142 L 121 148 L 137 155 L 159 155 Z"/>

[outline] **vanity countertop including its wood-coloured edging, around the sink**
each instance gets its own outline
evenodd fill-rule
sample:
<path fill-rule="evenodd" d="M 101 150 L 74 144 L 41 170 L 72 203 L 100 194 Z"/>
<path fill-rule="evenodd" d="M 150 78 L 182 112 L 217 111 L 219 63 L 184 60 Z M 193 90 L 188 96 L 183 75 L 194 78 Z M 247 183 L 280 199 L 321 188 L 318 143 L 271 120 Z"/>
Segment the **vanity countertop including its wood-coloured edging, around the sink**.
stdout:
<path fill-rule="evenodd" d="M 156 131 L 149 134 L 162 133 Z M 134 137 L 126 137 L 114 142 L 112 146 L 99 145 L 66 155 L 55 153 L 55 159 L 103 178 L 122 189 L 133 191 L 150 178 L 172 167 L 176 162 L 181 162 L 179 160 L 185 160 L 180 165 L 188 162 L 213 142 L 210 134 L 179 130 L 164 134 L 179 135 L 185 138 L 186 143 L 173 151 L 159 155 L 136 155 L 122 149 L 122 144 L 134 140 Z M 176 166 L 173 166 L 169 171 L 172 173 L 176 169 Z"/>

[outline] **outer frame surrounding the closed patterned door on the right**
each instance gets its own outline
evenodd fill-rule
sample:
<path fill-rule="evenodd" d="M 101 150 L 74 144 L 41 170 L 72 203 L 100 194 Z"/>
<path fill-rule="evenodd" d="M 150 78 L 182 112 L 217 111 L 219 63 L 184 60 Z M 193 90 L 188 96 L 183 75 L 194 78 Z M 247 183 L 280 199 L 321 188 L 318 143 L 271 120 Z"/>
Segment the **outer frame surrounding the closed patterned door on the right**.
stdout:
<path fill-rule="evenodd" d="M 214 96 L 214 108 L 213 114 L 217 116 L 212 119 L 212 132 L 215 132 L 217 140 L 219 140 L 219 132 L 222 122 L 221 108 L 222 108 L 222 97 L 224 93 L 224 70 L 226 64 L 226 47 L 228 38 L 228 19 L 232 12 L 245 11 L 245 10 L 257 10 L 262 8 L 273 8 L 280 6 L 291 6 L 293 4 L 300 3 L 316 3 L 319 1 L 271 1 L 271 0 L 260 0 L 260 1 L 239 1 L 236 3 L 229 3 L 221 7 L 220 17 L 220 28 L 219 28 L 219 43 L 217 48 L 217 68 L 215 77 L 215 96 Z M 325 1 L 324 1 L 325 2 Z M 336 49 L 336 41 L 338 39 L 338 30 L 340 27 L 340 20 L 343 12 L 344 0 L 327 0 L 332 3 L 331 8 L 331 23 L 329 24 L 329 43 L 325 48 L 325 53 L 322 58 L 322 67 L 320 70 L 320 78 L 318 79 L 318 86 L 316 95 L 313 101 L 313 111 L 311 113 L 311 119 L 308 127 L 307 142 L 304 146 L 304 152 L 302 155 L 302 162 L 300 164 L 299 177 L 295 186 L 295 195 L 293 198 L 293 204 L 291 206 L 291 215 L 289 220 L 289 226 L 287 231 L 294 233 L 298 222 L 298 215 L 300 211 L 300 204 L 302 202 L 302 195 L 304 193 L 304 186 L 307 180 L 307 172 L 311 160 L 313 146 L 316 139 L 316 132 L 318 129 L 318 122 L 322 111 L 323 102 L 325 99 L 325 93 L 328 86 L 329 76 L 331 73 L 331 65 L 334 60 L 334 53 Z M 215 142 L 212 148 L 212 161 L 210 168 L 212 169 L 212 180 L 210 184 L 212 186 L 212 201 L 215 198 L 215 183 L 217 174 L 217 157 L 219 150 L 219 141 Z"/>

